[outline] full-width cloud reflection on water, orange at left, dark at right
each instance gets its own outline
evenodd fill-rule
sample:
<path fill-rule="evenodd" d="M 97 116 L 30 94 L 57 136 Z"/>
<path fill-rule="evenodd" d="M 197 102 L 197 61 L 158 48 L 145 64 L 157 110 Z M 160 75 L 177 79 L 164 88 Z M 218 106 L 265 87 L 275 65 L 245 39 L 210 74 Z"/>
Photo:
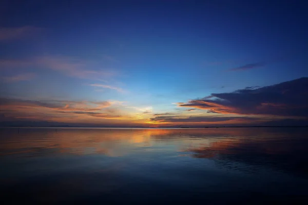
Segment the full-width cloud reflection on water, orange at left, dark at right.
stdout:
<path fill-rule="evenodd" d="M 136 153 L 140 147 L 144 152 L 170 148 L 174 153 L 191 153 L 220 163 L 236 161 L 308 173 L 304 128 L 2 129 L 1 136 L 2 156 L 58 153 L 119 157 Z"/>

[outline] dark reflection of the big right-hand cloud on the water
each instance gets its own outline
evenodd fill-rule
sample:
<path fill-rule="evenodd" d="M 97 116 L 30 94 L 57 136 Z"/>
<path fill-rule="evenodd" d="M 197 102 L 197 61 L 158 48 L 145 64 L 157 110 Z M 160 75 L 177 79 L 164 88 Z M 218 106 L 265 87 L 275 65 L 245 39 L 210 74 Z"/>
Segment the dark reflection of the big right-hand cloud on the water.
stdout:
<path fill-rule="evenodd" d="M 214 159 L 228 168 L 233 168 L 231 164 L 234 162 L 241 162 L 244 165 L 236 165 L 237 170 L 241 171 L 258 172 L 260 170 L 256 168 L 266 166 L 308 177 L 308 138 L 304 129 L 255 131 L 253 134 L 251 130 L 243 129 L 242 135 L 232 135 L 183 151 L 191 152 L 193 157 Z"/>

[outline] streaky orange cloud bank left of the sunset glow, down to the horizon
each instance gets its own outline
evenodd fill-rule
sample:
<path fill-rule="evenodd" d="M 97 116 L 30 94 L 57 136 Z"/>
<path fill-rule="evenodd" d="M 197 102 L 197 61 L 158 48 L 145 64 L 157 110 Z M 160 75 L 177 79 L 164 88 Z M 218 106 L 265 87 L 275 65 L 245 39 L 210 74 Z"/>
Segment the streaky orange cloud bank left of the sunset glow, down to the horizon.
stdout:
<path fill-rule="evenodd" d="M 33 120 L 37 122 L 35 123 L 37 126 L 41 125 L 40 121 L 44 125 L 47 125 L 49 122 L 59 122 L 66 123 L 65 125 L 90 127 L 143 126 L 144 119 L 138 118 L 134 113 L 130 113 L 129 110 L 126 110 L 125 107 L 121 105 L 122 103 L 121 101 L 24 100 L 0 98 L 0 122 L 23 120 L 24 123 L 25 120 Z M 29 123 L 25 122 L 23 125 L 25 124 L 29 126 Z"/>

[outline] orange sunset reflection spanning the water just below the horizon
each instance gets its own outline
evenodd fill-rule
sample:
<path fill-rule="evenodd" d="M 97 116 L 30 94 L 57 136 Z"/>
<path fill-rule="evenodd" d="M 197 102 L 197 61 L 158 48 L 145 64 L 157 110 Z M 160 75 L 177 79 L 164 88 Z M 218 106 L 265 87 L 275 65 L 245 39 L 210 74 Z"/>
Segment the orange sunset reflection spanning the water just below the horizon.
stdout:
<path fill-rule="evenodd" d="M 267 154 L 287 152 L 279 138 L 294 133 L 252 128 L 205 129 L 3 129 L 2 155 L 22 153 L 73 153 L 122 156 L 137 147 L 152 147 L 166 141 L 195 157 L 214 157 L 240 150 L 248 144 Z M 266 143 L 264 143 L 266 142 Z M 275 144 L 276 143 L 276 144 Z"/>

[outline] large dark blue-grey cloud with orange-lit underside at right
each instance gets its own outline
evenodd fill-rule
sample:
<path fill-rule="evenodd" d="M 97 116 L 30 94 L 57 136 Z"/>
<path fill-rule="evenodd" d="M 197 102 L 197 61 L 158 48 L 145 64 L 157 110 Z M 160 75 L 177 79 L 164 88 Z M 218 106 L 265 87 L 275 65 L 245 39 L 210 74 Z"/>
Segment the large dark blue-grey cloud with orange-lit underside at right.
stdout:
<path fill-rule="evenodd" d="M 242 89 L 230 93 L 213 93 L 188 103 L 177 104 L 222 114 L 308 116 L 308 78 L 284 83 Z"/>

